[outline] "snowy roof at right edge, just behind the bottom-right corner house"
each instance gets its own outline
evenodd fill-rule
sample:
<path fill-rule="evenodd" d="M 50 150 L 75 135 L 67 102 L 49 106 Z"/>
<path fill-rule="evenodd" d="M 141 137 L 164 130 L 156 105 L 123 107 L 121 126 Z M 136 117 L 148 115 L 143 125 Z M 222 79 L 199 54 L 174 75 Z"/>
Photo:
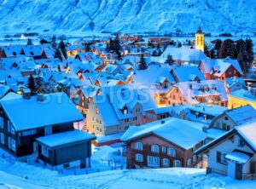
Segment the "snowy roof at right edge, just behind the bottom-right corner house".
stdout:
<path fill-rule="evenodd" d="M 236 125 L 253 122 L 256 124 L 256 110 L 251 105 L 237 107 L 225 112 Z"/>

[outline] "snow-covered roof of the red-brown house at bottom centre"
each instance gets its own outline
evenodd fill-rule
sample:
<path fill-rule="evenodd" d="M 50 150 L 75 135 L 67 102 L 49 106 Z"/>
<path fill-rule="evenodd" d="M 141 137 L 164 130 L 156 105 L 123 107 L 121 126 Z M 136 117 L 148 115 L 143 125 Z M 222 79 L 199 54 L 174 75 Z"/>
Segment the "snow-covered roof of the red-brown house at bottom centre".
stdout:
<path fill-rule="evenodd" d="M 207 135 L 203 131 L 195 129 L 197 127 L 195 124 L 200 123 L 168 117 L 141 125 L 140 127 L 132 126 L 120 140 L 135 140 L 138 137 L 154 134 L 188 150 L 207 138 Z"/>

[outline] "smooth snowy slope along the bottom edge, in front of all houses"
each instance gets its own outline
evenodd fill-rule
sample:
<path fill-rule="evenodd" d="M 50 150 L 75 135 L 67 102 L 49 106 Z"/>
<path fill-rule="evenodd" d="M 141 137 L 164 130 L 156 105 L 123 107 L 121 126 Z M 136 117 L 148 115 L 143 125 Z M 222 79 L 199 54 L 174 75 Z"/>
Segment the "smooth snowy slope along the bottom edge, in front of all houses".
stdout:
<path fill-rule="evenodd" d="M 52 171 L 32 169 L 26 165 L 20 169 L 29 174 L 28 179 L 0 172 L 0 188 L 256 188 L 256 181 L 205 175 L 205 169 L 113 170 L 77 176 L 59 176 Z"/>

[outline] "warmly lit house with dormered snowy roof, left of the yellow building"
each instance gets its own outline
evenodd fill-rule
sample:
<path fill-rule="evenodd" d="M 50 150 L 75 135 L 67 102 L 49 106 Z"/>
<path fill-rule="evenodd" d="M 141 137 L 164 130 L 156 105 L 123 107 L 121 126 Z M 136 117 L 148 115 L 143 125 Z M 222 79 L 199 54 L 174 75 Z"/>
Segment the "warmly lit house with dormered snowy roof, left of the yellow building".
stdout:
<path fill-rule="evenodd" d="M 169 105 L 197 105 L 201 103 L 227 106 L 224 83 L 219 80 L 176 83 L 166 94 Z"/>

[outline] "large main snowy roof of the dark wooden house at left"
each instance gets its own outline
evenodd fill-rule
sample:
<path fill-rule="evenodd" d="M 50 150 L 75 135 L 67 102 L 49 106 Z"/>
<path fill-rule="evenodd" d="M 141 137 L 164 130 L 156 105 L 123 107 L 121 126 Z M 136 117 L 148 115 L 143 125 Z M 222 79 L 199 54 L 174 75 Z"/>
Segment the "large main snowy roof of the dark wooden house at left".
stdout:
<path fill-rule="evenodd" d="M 22 96 L 9 98 L 7 95 L 0 100 L 0 104 L 16 131 L 84 119 L 65 93 L 44 94 L 42 102 L 37 100 L 37 96 L 24 99 Z"/>

